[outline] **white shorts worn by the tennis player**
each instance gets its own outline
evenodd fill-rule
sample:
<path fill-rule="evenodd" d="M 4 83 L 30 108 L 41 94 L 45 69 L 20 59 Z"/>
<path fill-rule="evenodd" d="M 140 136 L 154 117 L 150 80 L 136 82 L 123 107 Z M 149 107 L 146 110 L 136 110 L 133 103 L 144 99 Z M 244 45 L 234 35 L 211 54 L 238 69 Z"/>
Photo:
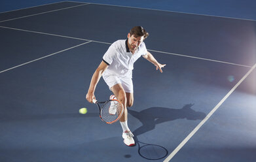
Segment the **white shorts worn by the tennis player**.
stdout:
<path fill-rule="evenodd" d="M 134 84 L 132 83 L 132 78 L 113 75 L 103 75 L 103 79 L 105 80 L 107 86 L 109 86 L 110 90 L 116 84 L 122 84 L 122 88 L 124 88 L 125 92 L 134 93 Z"/>

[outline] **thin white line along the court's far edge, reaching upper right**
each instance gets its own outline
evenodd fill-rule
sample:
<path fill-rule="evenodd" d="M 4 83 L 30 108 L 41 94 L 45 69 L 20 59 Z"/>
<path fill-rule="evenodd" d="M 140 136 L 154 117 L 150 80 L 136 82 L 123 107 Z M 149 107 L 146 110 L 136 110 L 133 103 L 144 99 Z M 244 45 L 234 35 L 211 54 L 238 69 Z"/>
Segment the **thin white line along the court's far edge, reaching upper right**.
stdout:
<path fill-rule="evenodd" d="M 78 1 L 67 1 L 67 2 L 75 2 L 78 3 Z M 87 2 L 84 2 L 87 3 Z M 172 11 L 172 10 L 160 10 L 160 9 L 154 9 L 154 8 L 142 8 L 142 7 L 130 7 L 130 6 L 121 6 L 121 5 L 108 5 L 103 3 L 90 3 L 92 5 L 105 5 L 105 6 L 113 6 L 113 7 L 125 7 L 125 8 L 136 8 L 136 9 L 143 9 L 143 10 L 156 10 L 156 11 L 163 11 L 163 12 L 174 12 L 174 13 L 180 13 L 180 14 L 192 14 L 192 15 L 198 15 L 198 16 L 210 16 L 210 17 L 216 17 L 216 18 L 228 18 L 228 19 L 234 19 L 234 20 L 247 20 L 251 22 L 256 22 L 256 20 L 252 19 L 246 19 L 246 18 L 234 18 L 234 17 L 227 17 L 227 16 L 215 16 L 210 14 L 196 14 L 196 13 L 189 13 L 189 12 L 179 12 L 179 11 Z"/>

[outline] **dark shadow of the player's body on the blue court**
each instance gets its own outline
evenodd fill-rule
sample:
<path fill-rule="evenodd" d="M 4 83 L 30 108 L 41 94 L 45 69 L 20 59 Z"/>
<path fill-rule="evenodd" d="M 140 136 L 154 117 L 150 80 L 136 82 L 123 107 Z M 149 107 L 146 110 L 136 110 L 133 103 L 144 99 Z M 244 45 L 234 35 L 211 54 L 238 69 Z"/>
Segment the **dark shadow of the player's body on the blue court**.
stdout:
<path fill-rule="evenodd" d="M 187 104 L 181 109 L 164 108 L 164 107 L 151 107 L 140 112 L 128 110 L 129 114 L 137 118 L 143 125 L 137 128 L 133 133 L 135 136 L 146 133 L 155 129 L 156 124 L 173 121 L 177 119 L 187 120 L 203 120 L 206 117 L 204 112 L 196 112 L 192 110 L 194 104 Z"/>

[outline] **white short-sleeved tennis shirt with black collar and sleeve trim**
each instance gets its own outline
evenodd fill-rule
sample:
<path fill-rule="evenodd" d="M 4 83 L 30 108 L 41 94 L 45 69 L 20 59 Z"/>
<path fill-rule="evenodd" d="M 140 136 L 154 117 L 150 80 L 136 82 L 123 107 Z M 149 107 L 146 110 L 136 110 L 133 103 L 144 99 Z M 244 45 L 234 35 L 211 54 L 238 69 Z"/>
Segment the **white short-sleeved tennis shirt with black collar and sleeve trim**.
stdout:
<path fill-rule="evenodd" d="M 109 46 L 109 49 L 103 56 L 103 61 L 109 65 L 103 75 L 115 75 L 132 78 L 134 62 L 147 54 L 147 48 L 144 42 L 139 44 L 136 52 L 132 54 L 128 48 L 128 40 L 117 40 Z"/>

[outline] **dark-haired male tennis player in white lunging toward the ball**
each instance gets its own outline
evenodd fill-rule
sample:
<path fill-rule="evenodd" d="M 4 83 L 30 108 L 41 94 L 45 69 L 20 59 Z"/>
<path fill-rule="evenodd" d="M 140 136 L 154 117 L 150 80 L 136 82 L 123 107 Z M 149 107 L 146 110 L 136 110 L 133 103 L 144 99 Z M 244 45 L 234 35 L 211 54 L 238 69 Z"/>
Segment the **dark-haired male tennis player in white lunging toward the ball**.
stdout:
<path fill-rule="evenodd" d="M 101 76 L 105 80 L 109 89 L 113 91 L 110 99 L 117 97 L 117 99 L 124 105 L 124 113 L 120 118 L 122 126 L 122 138 L 124 144 L 127 146 L 134 146 L 134 135 L 130 131 L 127 124 L 127 108 L 134 103 L 134 88 L 132 84 L 132 70 L 134 69 L 134 62 L 141 56 L 150 61 L 162 73 L 162 65 L 156 61 L 151 53 L 147 51 L 143 40 L 147 38 L 149 33 L 143 27 L 136 26 L 128 33 L 128 39 L 117 40 L 103 56 L 99 67 L 96 69 L 90 82 L 86 99 L 92 103 L 92 99 L 96 99 L 94 91 Z M 109 113 L 115 114 L 115 110 L 110 110 Z"/>

